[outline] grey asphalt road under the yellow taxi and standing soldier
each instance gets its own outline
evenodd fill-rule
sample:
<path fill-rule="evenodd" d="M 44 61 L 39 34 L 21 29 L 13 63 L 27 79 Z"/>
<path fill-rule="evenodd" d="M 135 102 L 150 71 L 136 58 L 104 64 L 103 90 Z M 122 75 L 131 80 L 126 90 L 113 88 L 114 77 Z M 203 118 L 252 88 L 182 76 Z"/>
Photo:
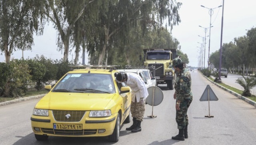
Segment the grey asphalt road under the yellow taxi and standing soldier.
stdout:
<path fill-rule="evenodd" d="M 120 140 L 109 143 L 107 137 L 49 137 L 40 142 L 34 138 L 30 127 L 30 116 L 39 99 L 31 99 L 0 106 L 0 145 L 255 145 L 256 144 L 256 107 L 213 85 L 198 72 L 192 74 L 193 102 L 188 110 L 190 124 L 189 138 L 175 141 L 171 137 L 178 133 L 175 121 L 174 90 L 165 85 L 160 88 L 164 100 L 158 106 L 146 105 L 142 131 L 131 133 L 124 124 Z M 218 101 L 199 101 L 206 85 L 210 85 Z M 147 115 L 156 115 L 148 118 Z"/>

